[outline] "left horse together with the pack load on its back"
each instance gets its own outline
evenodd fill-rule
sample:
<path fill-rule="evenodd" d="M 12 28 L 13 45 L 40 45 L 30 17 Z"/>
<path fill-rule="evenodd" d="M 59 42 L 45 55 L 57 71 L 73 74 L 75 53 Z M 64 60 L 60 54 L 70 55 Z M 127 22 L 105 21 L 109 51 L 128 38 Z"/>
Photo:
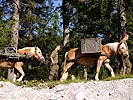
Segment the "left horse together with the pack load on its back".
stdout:
<path fill-rule="evenodd" d="M 14 52 L 15 51 L 15 52 Z M 2 52 L 0 54 L 0 67 L 2 68 L 12 68 L 18 70 L 18 72 L 21 74 L 21 76 L 17 79 L 17 81 L 22 81 L 23 77 L 25 76 L 25 73 L 23 71 L 23 65 L 24 62 L 21 60 L 21 57 L 35 57 L 39 61 L 44 61 L 44 56 L 42 55 L 42 52 L 40 48 L 38 47 L 24 47 L 22 49 L 18 49 L 17 51 L 14 50 L 13 52 L 7 53 Z M 16 59 L 17 60 L 14 60 Z"/>

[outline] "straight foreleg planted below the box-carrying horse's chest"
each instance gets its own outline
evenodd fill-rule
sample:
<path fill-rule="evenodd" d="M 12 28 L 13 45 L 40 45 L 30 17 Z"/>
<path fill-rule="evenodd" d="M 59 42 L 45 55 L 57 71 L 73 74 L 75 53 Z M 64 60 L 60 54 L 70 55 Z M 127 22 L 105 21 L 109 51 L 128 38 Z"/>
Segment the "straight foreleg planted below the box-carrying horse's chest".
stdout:
<path fill-rule="evenodd" d="M 102 66 L 103 61 L 104 61 L 103 56 L 100 56 L 99 59 L 97 60 L 97 69 L 96 69 L 96 75 L 95 75 L 96 81 L 99 81 L 98 75 L 99 75 L 100 68 Z"/>

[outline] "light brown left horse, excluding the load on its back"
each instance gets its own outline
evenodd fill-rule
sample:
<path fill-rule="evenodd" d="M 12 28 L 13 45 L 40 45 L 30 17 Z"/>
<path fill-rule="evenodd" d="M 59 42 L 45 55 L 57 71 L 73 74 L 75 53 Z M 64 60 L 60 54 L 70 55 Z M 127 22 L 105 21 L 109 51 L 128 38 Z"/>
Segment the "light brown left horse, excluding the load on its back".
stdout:
<path fill-rule="evenodd" d="M 22 49 L 18 49 L 17 51 L 20 55 L 22 54 L 26 54 L 28 55 L 29 58 L 31 57 L 35 57 L 36 59 L 38 59 L 39 61 L 44 61 L 44 57 L 42 55 L 41 50 L 38 47 L 24 47 Z M 0 67 L 2 68 L 12 68 L 14 67 L 15 69 L 17 69 L 21 76 L 17 79 L 17 81 L 22 81 L 23 77 L 25 76 L 25 73 L 22 69 L 24 65 L 24 62 L 21 60 L 18 60 L 16 62 L 12 62 L 10 60 L 1 60 L 0 61 Z"/>

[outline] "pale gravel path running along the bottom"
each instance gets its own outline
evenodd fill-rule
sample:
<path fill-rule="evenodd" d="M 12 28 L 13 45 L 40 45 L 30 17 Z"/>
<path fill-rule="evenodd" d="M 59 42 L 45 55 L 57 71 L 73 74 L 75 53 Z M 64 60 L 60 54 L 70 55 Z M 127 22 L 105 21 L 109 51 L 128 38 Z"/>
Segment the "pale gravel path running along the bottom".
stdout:
<path fill-rule="evenodd" d="M 48 87 L 21 87 L 0 81 L 0 100 L 133 100 L 133 78 Z"/>

